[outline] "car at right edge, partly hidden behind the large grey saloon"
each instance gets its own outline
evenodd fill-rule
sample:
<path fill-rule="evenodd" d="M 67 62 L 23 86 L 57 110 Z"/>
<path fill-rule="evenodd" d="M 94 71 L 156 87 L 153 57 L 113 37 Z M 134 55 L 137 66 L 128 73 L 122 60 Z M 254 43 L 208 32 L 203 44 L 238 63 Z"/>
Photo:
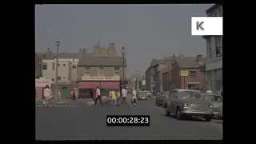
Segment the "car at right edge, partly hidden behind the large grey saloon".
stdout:
<path fill-rule="evenodd" d="M 220 105 L 222 104 L 222 96 L 218 94 L 202 94 L 202 99 L 214 105 L 214 116 L 220 118 Z"/>

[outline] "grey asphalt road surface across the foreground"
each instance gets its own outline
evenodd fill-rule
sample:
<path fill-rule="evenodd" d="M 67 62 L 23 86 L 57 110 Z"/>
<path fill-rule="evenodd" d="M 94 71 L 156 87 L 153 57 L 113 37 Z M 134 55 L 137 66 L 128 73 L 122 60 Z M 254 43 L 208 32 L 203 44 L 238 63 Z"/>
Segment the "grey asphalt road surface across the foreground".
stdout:
<path fill-rule="evenodd" d="M 189 140 L 222 139 L 222 120 L 179 121 L 166 117 L 154 100 L 130 106 L 94 106 L 93 102 L 52 102 L 36 106 L 37 140 Z M 107 127 L 106 115 L 150 115 L 150 126 Z"/>

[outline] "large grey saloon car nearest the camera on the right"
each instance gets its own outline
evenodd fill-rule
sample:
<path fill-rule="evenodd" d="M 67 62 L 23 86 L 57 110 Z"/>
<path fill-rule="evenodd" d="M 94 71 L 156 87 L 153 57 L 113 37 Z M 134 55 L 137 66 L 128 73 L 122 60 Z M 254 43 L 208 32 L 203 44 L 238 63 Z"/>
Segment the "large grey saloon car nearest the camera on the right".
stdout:
<path fill-rule="evenodd" d="M 166 115 L 176 114 L 179 120 L 185 116 L 202 116 L 210 122 L 214 105 L 202 99 L 198 90 L 174 89 L 166 98 L 164 109 Z"/>

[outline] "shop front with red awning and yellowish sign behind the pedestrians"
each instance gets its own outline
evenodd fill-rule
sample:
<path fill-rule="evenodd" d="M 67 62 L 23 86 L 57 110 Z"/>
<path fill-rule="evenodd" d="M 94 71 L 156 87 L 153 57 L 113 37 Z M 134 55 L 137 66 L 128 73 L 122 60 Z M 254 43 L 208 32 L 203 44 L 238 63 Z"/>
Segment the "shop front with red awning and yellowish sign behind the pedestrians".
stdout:
<path fill-rule="evenodd" d="M 102 96 L 107 96 L 110 90 L 120 89 L 119 77 L 90 77 L 83 76 L 82 81 L 78 82 L 79 98 L 92 98 L 93 90 L 98 86 Z"/>

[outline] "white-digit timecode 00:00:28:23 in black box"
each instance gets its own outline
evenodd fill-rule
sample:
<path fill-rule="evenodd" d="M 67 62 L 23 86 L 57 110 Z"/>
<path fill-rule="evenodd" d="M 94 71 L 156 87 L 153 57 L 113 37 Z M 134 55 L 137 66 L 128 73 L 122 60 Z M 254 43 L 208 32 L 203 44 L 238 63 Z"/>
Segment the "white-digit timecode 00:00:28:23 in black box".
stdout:
<path fill-rule="evenodd" d="M 107 115 L 106 126 L 150 126 L 150 115 Z"/>

